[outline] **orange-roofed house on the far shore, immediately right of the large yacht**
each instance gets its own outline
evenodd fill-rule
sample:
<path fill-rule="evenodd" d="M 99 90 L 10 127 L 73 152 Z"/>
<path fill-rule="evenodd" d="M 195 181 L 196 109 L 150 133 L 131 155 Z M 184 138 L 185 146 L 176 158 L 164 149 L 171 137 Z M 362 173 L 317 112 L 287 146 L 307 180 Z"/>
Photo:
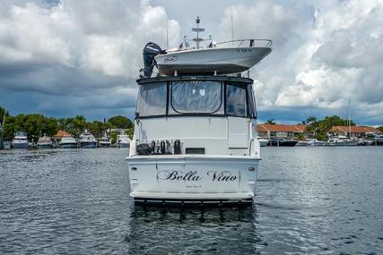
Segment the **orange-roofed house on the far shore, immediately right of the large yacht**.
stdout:
<path fill-rule="evenodd" d="M 266 139 L 274 137 L 293 139 L 298 135 L 306 136 L 305 125 L 258 124 L 257 131 L 260 137 Z"/>

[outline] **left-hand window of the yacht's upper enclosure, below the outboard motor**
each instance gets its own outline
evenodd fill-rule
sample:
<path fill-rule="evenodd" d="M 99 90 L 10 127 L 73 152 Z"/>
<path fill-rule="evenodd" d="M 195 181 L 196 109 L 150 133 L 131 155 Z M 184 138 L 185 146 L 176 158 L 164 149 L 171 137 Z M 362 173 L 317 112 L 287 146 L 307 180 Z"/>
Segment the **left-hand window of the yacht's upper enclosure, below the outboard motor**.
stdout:
<path fill-rule="evenodd" d="M 167 84 L 163 82 L 140 86 L 137 112 L 140 116 L 166 115 Z"/>

